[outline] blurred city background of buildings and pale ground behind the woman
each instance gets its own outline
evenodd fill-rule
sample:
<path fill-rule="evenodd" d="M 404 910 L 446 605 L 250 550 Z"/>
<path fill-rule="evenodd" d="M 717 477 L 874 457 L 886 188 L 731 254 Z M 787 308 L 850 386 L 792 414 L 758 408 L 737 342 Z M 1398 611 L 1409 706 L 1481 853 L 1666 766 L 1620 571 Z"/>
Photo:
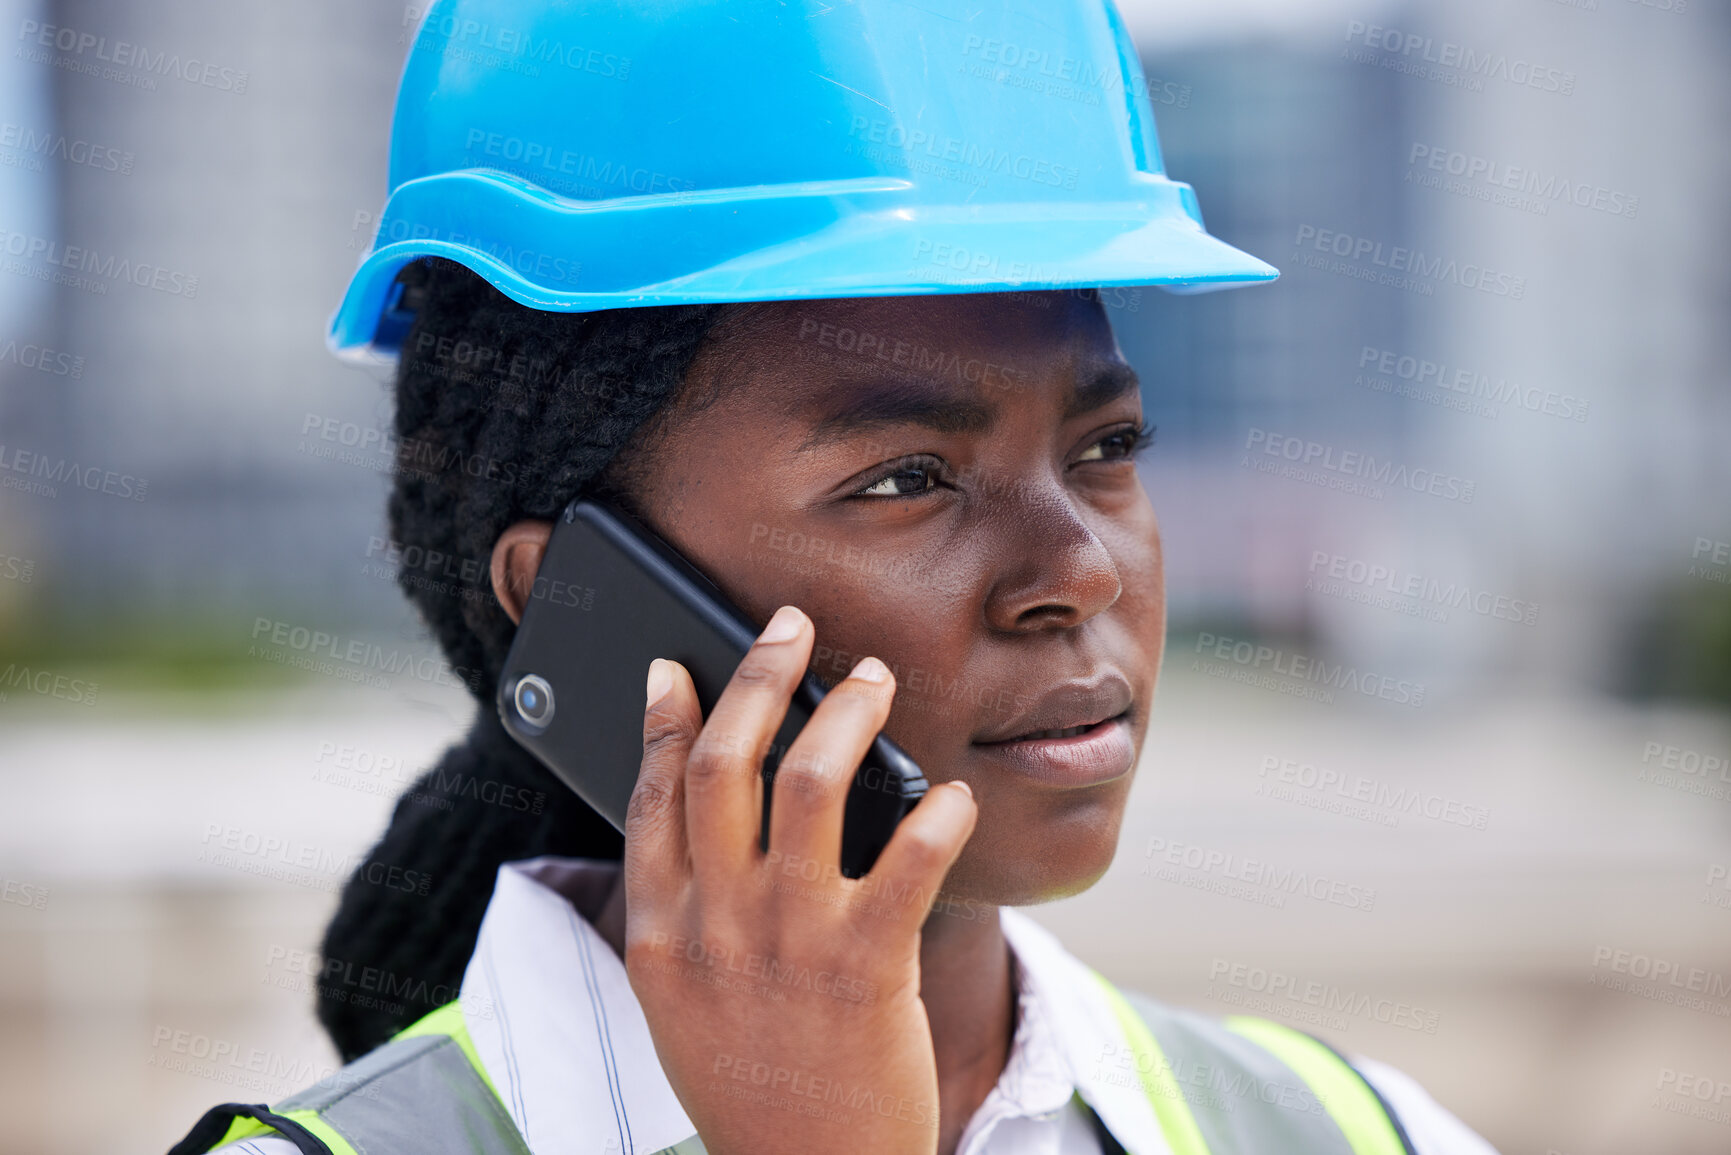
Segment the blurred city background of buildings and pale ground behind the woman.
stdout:
<path fill-rule="evenodd" d="M 386 383 L 322 334 L 421 7 L 0 0 L 0 464 L 113 474 L 0 471 L 0 668 L 88 698 L 0 686 L 0 1150 L 163 1150 L 322 1074 L 296 966 L 341 876 L 213 850 L 237 826 L 364 850 L 473 710 L 256 648 L 289 623 L 433 649 L 383 549 L 386 455 L 310 435 L 389 428 Z M 1731 1150 L 1731 1100 L 1665 1079 L 1731 1084 L 1731 12 L 1123 12 L 1167 170 L 1283 277 L 1115 306 L 1158 424 L 1172 641 L 1118 864 L 1037 916 L 1120 982 L 1402 1067 L 1511 1155 Z M 40 50 L 43 26 L 215 81 Z M 17 256 L 38 242 L 168 287 L 54 284 Z M 1310 445 L 1444 494 L 1328 488 L 1317 454 L 1276 473 Z M 1245 684 L 1239 641 L 1409 689 Z M 1454 817 L 1347 810 L 1322 771 Z M 1174 847 L 1376 902 L 1220 897 Z M 1643 987 L 1638 956 L 1703 990 Z M 1257 973 L 1421 1025 L 1267 1003 Z"/>

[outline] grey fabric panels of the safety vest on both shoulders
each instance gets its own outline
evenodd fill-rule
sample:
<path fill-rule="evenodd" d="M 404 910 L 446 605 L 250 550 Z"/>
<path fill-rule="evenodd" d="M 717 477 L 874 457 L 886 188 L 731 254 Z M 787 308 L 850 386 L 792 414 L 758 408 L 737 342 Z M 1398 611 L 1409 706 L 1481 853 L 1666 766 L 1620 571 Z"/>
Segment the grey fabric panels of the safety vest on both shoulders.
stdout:
<path fill-rule="evenodd" d="M 1269 1051 L 1205 1015 L 1122 994 L 1165 1053 L 1210 1155 L 1354 1155 L 1303 1079 Z M 360 1155 L 530 1155 L 447 1036 L 388 1042 L 275 1107 L 298 1108 L 317 1110 Z M 692 1134 L 656 1155 L 705 1155 L 705 1146 Z"/>

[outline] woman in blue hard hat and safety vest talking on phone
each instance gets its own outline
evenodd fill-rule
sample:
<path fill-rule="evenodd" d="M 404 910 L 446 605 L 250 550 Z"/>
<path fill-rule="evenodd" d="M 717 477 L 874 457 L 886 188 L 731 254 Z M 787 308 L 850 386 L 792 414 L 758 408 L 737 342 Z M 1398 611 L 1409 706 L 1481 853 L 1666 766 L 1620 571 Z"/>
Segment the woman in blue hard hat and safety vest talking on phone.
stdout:
<path fill-rule="evenodd" d="M 623 23 L 606 28 L 585 17 L 585 43 L 616 50 L 587 48 L 583 74 L 561 73 L 561 83 L 602 99 L 595 85 L 616 80 L 621 61 L 634 85 L 654 61 L 666 68 L 661 83 L 637 92 L 670 99 L 665 85 L 679 83 L 684 57 L 666 42 L 705 48 L 685 64 L 725 57 L 741 23 L 696 3 L 677 19 L 658 14 L 661 55 L 651 55 L 642 45 L 653 38 L 634 40 L 632 26 L 649 19 L 646 9 L 621 9 Z M 746 244 L 737 230 L 763 197 L 732 192 L 737 158 L 699 165 L 694 130 L 673 135 L 668 156 L 682 159 L 663 163 L 708 175 L 613 201 L 611 220 L 544 197 L 554 184 L 521 187 L 523 173 L 474 175 L 474 156 L 447 156 L 440 163 L 450 173 L 422 177 L 414 156 L 405 161 L 405 139 L 434 154 L 459 139 L 486 151 L 499 135 L 505 144 L 492 168 L 507 177 L 512 139 L 519 158 L 530 144 L 542 161 L 559 156 L 540 135 L 549 123 L 490 133 L 473 121 L 459 130 L 460 116 L 438 111 L 464 88 L 455 76 L 538 88 L 497 61 L 474 73 L 476 45 L 466 43 L 488 36 L 471 31 L 479 26 L 493 29 L 495 54 L 535 43 L 535 29 L 523 33 L 512 19 L 537 14 L 448 3 L 428 16 L 398 107 L 393 204 L 402 197 L 407 213 L 419 197 L 419 211 L 438 223 L 388 241 L 386 213 L 336 327 L 339 345 L 360 332 L 358 343 L 400 346 L 402 469 L 389 511 L 403 556 L 486 559 L 483 587 L 407 566 L 402 577 L 450 663 L 481 674 L 478 720 L 398 803 L 372 855 L 429 874 L 431 894 L 357 876 L 324 944 L 327 977 L 360 968 L 402 1001 L 322 985 L 320 1016 L 355 1061 L 275 1108 L 218 1108 L 177 1150 L 1489 1150 L 1397 1072 L 1367 1061 L 1354 1070 L 1272 1023 L 1222 1027 L 1125 997 L 1013 909 L 1077 894 L 1110 866 L 1165 632 L 1160 535 L 1134 464 L 1149 440 L 1139 386 L 1099 294 L 1068 286 L 1269 274 L 1208 241 L 1194 201 L 1179 194 L 1167 210 L 1186 215 L 1182 227 L 1144 232 L 1162 211 L 1155 192 L 1174 185 L 1156 180 L 1141 76 L 1110 9 L 988 5 L 964 28 L 891 3 L 859 12 L 836 19 L 867 21 L 864 31 L 885 43 L 917 45 L 904 52 L 912 62 L 893 66 L 871 50 L 876 71 L 855 74 L 838 61 L 859 52 L 850 29 L 788 24 L 781 40 L 772 36 L 777 68 L 793 74 L 796 62 L 822 64 L 805 69 L 822 83 L 801 81 L 805 104 L 795 107 L 836 99 L 859 109 L 862 97 L 888 109 L 864 88 L 905 104 L 940 92 L 933 66 L 957 61 L 961 74 L 990 81 L 966 69 L 1004 61 L 1016 28 L 1044 36 L 1063 59 L 1115 54 L 1118 104 L 1108 100 L 1092 123 L 1116 135 L 1089 137 L 1075 109 L 1014 106 L 1025 87 L 980 99 L 969 132 L 917 132 L 928 142 L 1009 140 L 1006 156 L 1032 158 L 1014 151 L 1032 132 L 1026 113 L 1073 137 L 1051 137 L 1054 151 L 1116 151 L 1125 180 L 1148 194 L 1136 206 L 1146 220 L 1111 222 L 1134 244 L 1096 237 L 1092 263 L 1042 274 L 1030 272 L 1032 260 L 1009 272 L 976 248 L 961 265 L 938 258 L 961 272 L 947 282 L 909 272 L 905 255 L 995 236 L 1004 253 L 1021 244 L 1023 255 L 1071 260 L 1068 249 L 1101 215 L 1065 218 L 1063 197 L 1044 182 L 978 197 L 1035 206 L 1032 216 L 994 222 L 975 197 L 994 185 L 938 187 L 935 204 L 917 213 L 860 210 L 860 232 L 841 229 L 834 241 L 831 222 L 840 213 L 848 223 L 859 208 L 838 203 L 859 197 L 871 208 L 879 194 L 930 192 L 919 180 L 866 187 L 859 177 L 836 177 L 852 184 L 814 194 L 824 206 L 815 223 L 789 213 L 791 234 L 763 225 Z M 493 24 L 469 19 L 476 14 Z M 907 36 L 890 35 L 898 19 Z M 535 28 L 547 31 L 545 21 Z M 810 61 L 796 59 L 801 52 Z M 571 57 L 559 61 L 569 68 Z M 421 88 L 417 69 L 433 74 Z M 763 87 L 774 85 L 739 92 L 760 100 Z M 968 92 L 949 99 L 968 104 Z M 708 114 L 692 94 L 675 95 L 679 116 Z M 421 114 L 415 100 L 434 111 Z M 535 107 L 578 104 L 542 99 Z M 405 109 L 421 116 L 407 128 Z M 656 123 L 640 107 L 621 106 L 618 116 L 625 128 L 613 149 L 632 147 L 627 137 Z M 763 166 L 829 147 L 930 173 L 905 154 L 885 161 L 857 151 L 874 137 L 895 147 L 895 133 L 879 133 L 869 113 L 817 116 L 807 128 L 810 147 L 791 147 L 782 133 L 758 158 Z M 945 144 L 942 154 L 950 152 Z M 1082 184 L 1080 165 L 1039 159 L 1059 185 L 1066 168 Z M 1023 170 L 1040 184 L 1037 165 L 1006 171 L 1021 178 Z M 992 165 L 987 171 L 997 175 Z M 756 187 L 810 192 L 789 190 L 781 177 Z M 424 204 L 436 180 L 459 182 L 464 204 L 481 203 L 507 222 L 500 229 L 518 242 L 509 258 L 450 239 L 459 232 L 452 218 Z M 684 201 L 656 199 L 666 196 Z M 634 215 L 673 208 L 682 215 L 661 220 L 687 230 L 672 246 L 625 253 L 620 236 L 649 236 L 632 232 Z M 722 244 L 692 227 L 711 210 L 718 227 L 734 229 Z M 1030 239 L 1030 220 L 1049 230 Z M 931 222 L 949 222 L 954 236 L 904 229 Z M 1001 229 L 981 232 L 992 227 Z M 885 263 L 883 237 L 911 248 Z M 810 255 L 826 242 L 829 272 L 819 274 Z M 691 253 L 668 251 L 680 246 Z M 573 287 L 554 284 L 568 274 L 549 267 L 549 253 L 601 256 Z M 634 261 L 661 279 L 632 281 Z M 646 291 L 651 281 L 660 287 Z M 767 623 L 708 719 L 677 663 L 618 672 L 647 675 L 644 757 L 623 838 L 518 748 L 490 708 L 552 518 L 578 494 L 634 511 Z M 756 845 L 758 762 L 805 670 L 831 693 L 781 764 L 765 852 Z M 848 880 L 833 866 L 843 798 L 879 729 L 933 786 L 871 874 Z M 486 784 L 538 803 L 502 805 L 502 790 Z M 460 997 L 447 1006 L 417 1001 L 459 984 Z"/>

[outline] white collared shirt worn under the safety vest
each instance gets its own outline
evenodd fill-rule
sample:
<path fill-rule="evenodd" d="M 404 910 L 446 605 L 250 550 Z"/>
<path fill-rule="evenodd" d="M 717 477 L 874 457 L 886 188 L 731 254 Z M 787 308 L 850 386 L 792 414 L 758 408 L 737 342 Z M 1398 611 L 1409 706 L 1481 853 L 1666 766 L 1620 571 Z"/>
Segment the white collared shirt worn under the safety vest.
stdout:
<path fill-rule="evenodd" d="M 557 857 L 500 866 L 462 978 L 476 1053 L 533 1155 L 651 1155 L 696 1132 L 625 963 L 590 925 L 618 869 Z M 1097 1061 L 1123 1037 L 1089 970 L 1026 914 L 1002 907 L 999 918 L 1016 958 L 1016 1036 L 956 1155 L 1101 1155 L 1087 1108 L 1129 1155 L 1170 1155 L 1142 1091 Z M 1496 1155 L 1400 1072 L 1354 1065 L 1400 1115 L 1418 1155 Z M 296 1155 L 277 1136 L 220 1150 Z"/>

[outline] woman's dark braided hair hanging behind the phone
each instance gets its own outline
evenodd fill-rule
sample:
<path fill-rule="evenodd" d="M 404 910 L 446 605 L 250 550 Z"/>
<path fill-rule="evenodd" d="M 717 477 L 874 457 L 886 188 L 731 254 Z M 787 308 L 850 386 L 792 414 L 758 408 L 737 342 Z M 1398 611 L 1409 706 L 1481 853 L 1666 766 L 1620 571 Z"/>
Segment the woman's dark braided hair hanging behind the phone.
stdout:
<path fill-rule="evenodd" d="M 396 371 L 398 584 L 479 710 L 466 741 L 398 800 L 367 859 L 426 892 L 374 885 L 379 871 L 364 866 L 325 930 L 319 1020 L 344 1061 L 457 996 L 500 862 L 623 855 L 620 833 L 499 722 L 492 696 L 516 627 L 488 563 L 507 526 L 554 519 L 578 494 L 632 506 L 634 462 L 698 348 L 736 308 L 538 312 L 433 258 L 400 281 L 414 320 Z M 358 978 L 365 968 L 370 982 Z M 370 990 L 383 997 L 360 997 Z"/>

